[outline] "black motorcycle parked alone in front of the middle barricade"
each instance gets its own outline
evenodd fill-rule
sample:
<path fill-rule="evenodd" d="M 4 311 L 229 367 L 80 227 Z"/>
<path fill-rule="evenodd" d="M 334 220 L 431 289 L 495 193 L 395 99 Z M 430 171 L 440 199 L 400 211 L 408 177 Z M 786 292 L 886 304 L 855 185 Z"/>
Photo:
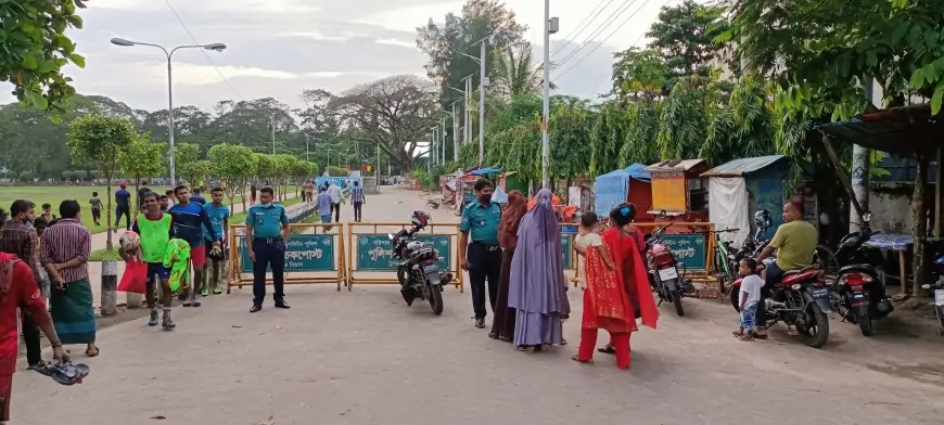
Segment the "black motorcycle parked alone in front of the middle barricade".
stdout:
<path fill-rule="evenodd" d="M 430 216 L 421 210 L 413 211 L 410 221 L 413 227 L 397 234 L 388 234 L 393 257 L 398 260 L 397 279 L 400 295 L 412 306 L 419 297 L 430 301 L 436 314 L 443 313 L 443 287 L 452 280 L 452 273 L 439 272 L 437 261 L 443 260 L 439 253 L 429 243 L 416 241 L 413 236 L 430 221 Z"/>

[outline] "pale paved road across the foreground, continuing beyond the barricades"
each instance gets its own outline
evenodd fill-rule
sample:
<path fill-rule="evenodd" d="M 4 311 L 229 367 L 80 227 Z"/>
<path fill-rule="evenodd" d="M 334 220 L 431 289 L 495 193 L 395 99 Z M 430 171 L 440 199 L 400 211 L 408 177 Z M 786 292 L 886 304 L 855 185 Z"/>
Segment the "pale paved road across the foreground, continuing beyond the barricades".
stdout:
<path fill-rule="evenodd" d="M 400 196 L 391 214 L 422 206 Z M 579 318 L 578 292 L 570 297 Z M 730 336 L 730 307 L 714 301 L 687 300 L 685 318 L 663 307 L 660 330 L 634 336 L 633 368 L 621 372 L 603 355 L 594 365 L 570 360 L 578 320 L 564 325 L 571 346 L 549 352 L 487 338 L 472 326 L 468 291 L 447 289 L 442 317 L 403 306 L 390 286 L 292 286 L 291 310 L 269 299 L 256 314 L 243 288 L 175 309 L 175 332 L 146 319 L 102 331 L 102 355 L 77 359 L 92 368 L 78 387 L 21 364 L 14 423 L 255 425 L 271 415 L 275 425 L 864 425 L 940 424 L 944 415 L 936 340 L 866 339 L 834 323 L 821 350 L 779 334 L 741 343 Z"/>

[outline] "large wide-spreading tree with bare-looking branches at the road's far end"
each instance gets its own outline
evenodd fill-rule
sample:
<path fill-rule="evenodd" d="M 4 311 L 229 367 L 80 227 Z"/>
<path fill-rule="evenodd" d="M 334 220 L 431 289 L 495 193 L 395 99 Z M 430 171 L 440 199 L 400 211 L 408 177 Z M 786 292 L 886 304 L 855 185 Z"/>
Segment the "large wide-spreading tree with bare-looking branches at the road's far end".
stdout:
<path fill-rule="evenodd" d="M 332 102 L 341 119 L 359 128 L 353 140 L 375 145 L 408 172 L 417 146 L 435 123 L 436 89 L 412 75 L 397 75 L 354 88 Z"/>

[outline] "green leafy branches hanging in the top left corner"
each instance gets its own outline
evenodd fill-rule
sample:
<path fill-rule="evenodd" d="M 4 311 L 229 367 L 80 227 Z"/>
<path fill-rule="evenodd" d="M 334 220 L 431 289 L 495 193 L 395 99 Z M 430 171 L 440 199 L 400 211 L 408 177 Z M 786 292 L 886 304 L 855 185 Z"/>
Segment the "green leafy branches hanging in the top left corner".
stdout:
<path fill-rule="evenodd" d="M 85 67 L 86 60 L 75 52 L 76 44 L 65 33 L 81 29 L 76 8 L 85 7 L 82 0 L 0 2 L 0 81 L 14 85 L 21 103 L 53 117 L 66 111 L 65 102 L 75 89 L 62 67 L 69 62 Z"/>

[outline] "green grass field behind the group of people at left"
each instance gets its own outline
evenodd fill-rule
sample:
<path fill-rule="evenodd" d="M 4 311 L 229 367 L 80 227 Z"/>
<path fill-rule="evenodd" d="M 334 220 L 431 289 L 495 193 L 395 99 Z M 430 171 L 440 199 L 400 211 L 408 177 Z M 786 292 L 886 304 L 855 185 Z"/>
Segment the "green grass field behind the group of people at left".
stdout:
<path fill-rule="evenodd" d="M 163 194 L 165 191 L 170 189 L 169 186 L 152 186 L 149 185 L 151 190 L 156 191 L 158 194 Z M 129 186 L 128 191 L 131 193 L 131 202 L 136 202 L 137 194 L 133 193 L 133 186 Z M 115 191 L 117 191 L 117 186 L 112 188 L 112 194 L 114 196 Z M 36 203 L 36 215 L 38 216 L 42 211 L 40 210 L 40 206 L 44 203 L 49 203 L 52 205 L 52 214 L 59 217 L 59 204 L 65 199 L 76 199 L 79 202 L 79 205 L 82 207 L 82 223 L 92 231 L 92 233 L 100 233 L 105 231 L 105 211 L 102 211 L 101 226 L 95 226 L 92 221 L 92 209 L 89 205 L 89 198 L 92 197 L 92 192 L 98 192 L 99 197 L 102 198 L 102 206 L 107 205 L 105 201 L 105 186 L 47 186 L 47 185 L 37 185 L 37 186 L 0 186 L 0 207 L 9 210 L 10 204 L 13 204 L 13 201 L 16 199 L 29 199 Z M 248 191 L 246 191 L 248 192 Z M 289 196 L 295 195 L 295 186 L 289 185 L 285 192 Z M 209 194 L 204 194 L 204 197 L 209 199 Z M 229 199 L 224 199 L 224 203 L 229 204 Z M 242 203 L 242 196 L 235 195 L 233 197 L 233 205 L 240 205 Z M 112 198 L 112 222 L 114 226 L 115 220 L 115 207 L 114 207 L 114 197 Z M 124 219 L 122 220 L 124 222 Z"/>

